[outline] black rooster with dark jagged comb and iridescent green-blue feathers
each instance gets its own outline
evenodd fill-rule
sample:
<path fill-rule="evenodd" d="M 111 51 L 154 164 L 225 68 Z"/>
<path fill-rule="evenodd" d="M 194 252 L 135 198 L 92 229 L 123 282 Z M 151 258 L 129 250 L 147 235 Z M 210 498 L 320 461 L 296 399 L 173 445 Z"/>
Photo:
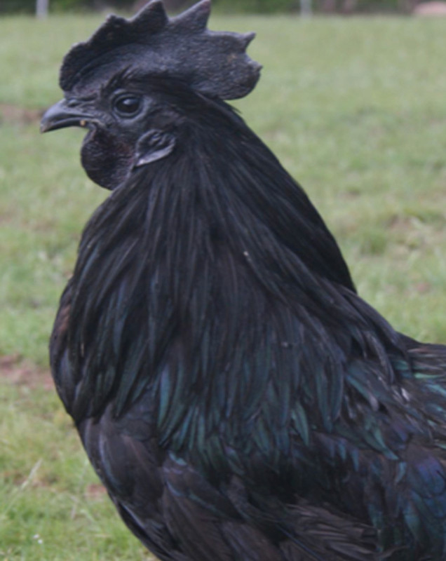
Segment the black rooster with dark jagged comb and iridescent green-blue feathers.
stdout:
<path fill-rule="evenodd" d="M 112 16 L 62 65 L 42 130 L 87 128 L 83 166 L 112 194 L 55 320 L 60 398 L 161 560 L 445 560 L 446 347 L 356 295 L 223 101 L 259 65 L 209 10 Z"/>

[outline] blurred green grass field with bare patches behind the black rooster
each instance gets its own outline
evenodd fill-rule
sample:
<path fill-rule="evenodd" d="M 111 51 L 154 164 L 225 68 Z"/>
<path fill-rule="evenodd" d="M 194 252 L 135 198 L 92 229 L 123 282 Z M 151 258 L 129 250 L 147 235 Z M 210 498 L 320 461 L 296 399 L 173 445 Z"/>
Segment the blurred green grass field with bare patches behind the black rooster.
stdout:
<path fill-rule="evenodd" d="M 86 219 L 107 195 L 80 130 L 39 135 L 67 48 L 101 18 L 0 19 L 0 560 L 149 560 L 93 474 L 48 378 L 47 342 Z M 358 290 L 446 342 L 446 20 L 221 18 L 257 31 L 237 106 L 301 182 Z"/>

